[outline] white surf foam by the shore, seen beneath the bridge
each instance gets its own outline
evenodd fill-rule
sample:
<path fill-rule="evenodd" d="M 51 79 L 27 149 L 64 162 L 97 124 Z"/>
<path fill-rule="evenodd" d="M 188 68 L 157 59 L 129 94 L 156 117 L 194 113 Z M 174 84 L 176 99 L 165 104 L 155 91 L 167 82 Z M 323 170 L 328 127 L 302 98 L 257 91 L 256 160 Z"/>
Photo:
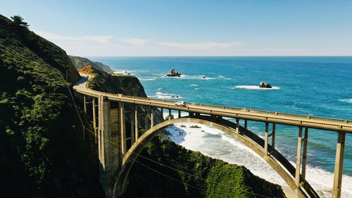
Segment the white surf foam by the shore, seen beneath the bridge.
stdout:
<path fill-rule="evenodd" d="M 180 128 L 180 125 L 185 125 L 186 128 Z M 171 134 L 169 135 L 170 139 L 175 142 L 179 142 L 177 144 L 180 144 L 187 149 L 201 151 L 202 154 L 207 156 L 221 159 L 223 161 L 227 161 L 228 163 L 245 166 L 251 170 L 254 175 L 258 175 L 260 178 L 264 178 L 270 182 L 275 182 L 279 185 L 287 185 L 286 182 L 284 182 L 284 180 L 271 168 L 271 166 L 268 165 L 268 163 L 260 158 L 260 156 L 258 156 L 258 154 L 254 151 L 249 149 L 249 147 L 246 147 L 244 144 L 234 139 L 234 137 L 206 125 L 196 124 L 201 128 L 189 128 L 191 125 L 195 124 L 179 123 L 175 124 L 175 128 L 168 128 L 167 130 Z M 177 128 L 182 130 L 184 133 L 177 131 Z M 207 134 L 221 135 L 220 139 L 216 139 L 218 144 L 212 141 L 205 142 L 205 136 Z M 229 143 L 232 145 L 231 147 L 228 146 Z M 290 163 L 296 167 L 294 162 L 290 161 Z M 322 170 L 322 168 L 319 167 L 312 167 L 308 165 L 306 174 L 306 179 L 316 190 L 316 192 L 318 192 L 320 197 L 332 196 L 332 182 L 334 180 L 333 173 Z M 343 188 L 341 197 L 352 198 L 352 177 L 343 175 L 342 183 Z"/>

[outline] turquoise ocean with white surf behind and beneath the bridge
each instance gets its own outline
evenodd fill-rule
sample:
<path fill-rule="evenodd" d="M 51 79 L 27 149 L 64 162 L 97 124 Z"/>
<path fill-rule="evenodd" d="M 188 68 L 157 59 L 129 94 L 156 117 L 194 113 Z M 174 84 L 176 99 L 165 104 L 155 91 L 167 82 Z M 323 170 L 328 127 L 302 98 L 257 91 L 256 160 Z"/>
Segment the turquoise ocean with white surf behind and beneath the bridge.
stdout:
<path fill-rule="evenodd" d="M 297 113 L 352 120 L 352 57 L 90 57 L 116 73 L 137 76 L 150 98 Z M 182 78 L 163 78 L 171 68 Z M 260 89 L 261 81 L 273 89 Z M 176 113 L 177 112 L 173 112 Z M 166 116 L 166 114 L 165 114 Z M 181 125 L 181 124 L 180 124 Z M 285 185 L 275 171 L 230 135 L 214 128 L 168 128 L 187 149 Z M 265 124 L 249 121 L 264 136 Z M 277 125 L 275 147 L 296 162 L 298 128 Z M 306 180 L 321 197 L 331 197 L 337 132 L 309 130 Z M 346 135 L 342 196 L 352 197 L 352 135 Z"/>

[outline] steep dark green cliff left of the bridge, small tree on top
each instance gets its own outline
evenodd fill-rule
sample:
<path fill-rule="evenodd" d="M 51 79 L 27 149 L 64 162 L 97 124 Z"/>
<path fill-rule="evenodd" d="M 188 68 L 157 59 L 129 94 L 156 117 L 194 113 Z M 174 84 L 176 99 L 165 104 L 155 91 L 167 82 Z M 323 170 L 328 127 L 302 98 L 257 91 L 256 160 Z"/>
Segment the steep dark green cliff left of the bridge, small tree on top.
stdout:
<path fill-rule="evenodd" d="M 63 49 L 0 16 L 1 197 L 101 197 L 67 87 L 79 79 Z"/>

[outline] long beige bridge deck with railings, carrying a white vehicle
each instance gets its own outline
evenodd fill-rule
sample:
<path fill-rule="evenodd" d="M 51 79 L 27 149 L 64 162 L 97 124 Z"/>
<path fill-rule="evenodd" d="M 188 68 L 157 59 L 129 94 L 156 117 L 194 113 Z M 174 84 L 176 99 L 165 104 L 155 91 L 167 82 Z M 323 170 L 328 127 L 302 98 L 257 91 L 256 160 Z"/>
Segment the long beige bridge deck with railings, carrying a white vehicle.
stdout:
<path fill-rule="evenodd" d="M 89 76 L 87 76 L 89 78 Z M 279 113 L 274 111 L 261 111 L 256 109 L 243 109 L 229 106 L 216 106 L 210 104 L 186 103 L 186 106 L 177 106 L 175 101 L 162 99 L 149 99 L 142 97 L 129 97 L 122 94 L 110 94 L 88 89 L 85 85 L 89 80 L 82 77 L 83 80 L 77 82 L 73 87 L 76 92 L 99 97 L 106 95 L 111 101 L 123 101 L 131 104 L 140 104 L 146 106 L 155 106 L 165 109 L 174 109 L 194 113 L 203 113 L 214 116 L 224 116 L 230 118 L 239 118 L 245 120 L 255 120 L 265 123 L 277 123 L 283 125 L 294 125 L 298 127 L 316 128 L 320 130 L 343 131 L 352 133 L 352 120 L 341 120 L 336 118 L 322 118 L 317 116 L 304 116 L 292 113 Z M 85 79 L 84 79 L 85 78 Z"/>

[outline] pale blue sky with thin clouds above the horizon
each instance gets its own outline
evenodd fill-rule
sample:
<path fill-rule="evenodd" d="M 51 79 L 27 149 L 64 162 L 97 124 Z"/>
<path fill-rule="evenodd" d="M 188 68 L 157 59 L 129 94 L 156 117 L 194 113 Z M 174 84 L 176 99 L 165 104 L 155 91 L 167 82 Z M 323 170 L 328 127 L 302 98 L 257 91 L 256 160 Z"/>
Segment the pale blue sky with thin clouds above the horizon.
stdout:
<path fill-rule="evenodd" d="M 75 56 L 352 56 L 352 1 L 0 0 Z"/>

